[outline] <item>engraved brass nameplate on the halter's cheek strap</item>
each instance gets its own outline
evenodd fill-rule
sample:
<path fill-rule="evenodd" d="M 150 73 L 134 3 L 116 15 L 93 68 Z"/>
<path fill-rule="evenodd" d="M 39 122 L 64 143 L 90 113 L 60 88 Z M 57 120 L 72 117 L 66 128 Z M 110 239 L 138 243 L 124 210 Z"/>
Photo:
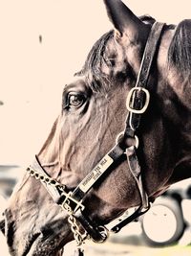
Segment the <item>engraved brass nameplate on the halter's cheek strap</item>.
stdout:
<path fill-rule="evenodd" d="M 87 175 L 79 184 L 79 189 L 86 193 L 96 182 L 99 176 L 103 175 L 103 173 L 111 166 L 114 160 L 106 154 L 96 165 L 96 167 L 91 171 L 89 175 Z"/>

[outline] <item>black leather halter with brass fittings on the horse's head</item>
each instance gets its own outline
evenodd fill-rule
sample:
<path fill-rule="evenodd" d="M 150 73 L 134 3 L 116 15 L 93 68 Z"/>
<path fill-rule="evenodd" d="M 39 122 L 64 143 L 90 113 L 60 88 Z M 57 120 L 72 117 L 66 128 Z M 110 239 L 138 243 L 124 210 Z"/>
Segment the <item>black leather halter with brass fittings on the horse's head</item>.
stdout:
<path fill-rule="evenodd" d="M 111 230 L 113 232 L 118 232 L 124 225 L 131 221 L 135 221 L 150 208 L 149 198 L 143 188 L 141 170 L 138 164 L 138 137 L 136 132 L 140 124 L 140 117 L 149 105 L 150 94 L 147 90 L 147 81 L 149 79 L 153 60 L 157 54 L 163 26 L 164 23 L 159 22 L 154 23 L 152 26 L 141 60 L 136 86 L 130 90 L 127 96 L 126 105 L 128 116 L 126 119 L 125 130 L 118 135 L 116 146 L 103 156 L 96 167 L 79 183 L 74 191 L 68 192 L 65 185 L 59 184 L 56 180 L 53 180 L 53 178 L 51 178 L 43 169 L 37 157 L 32 166 L 27 170 L 30 175 L 41 181 L 54 202 L 60 205 L 62 209 L 67 210 L 68 213 L 81 224 L 85 232 L 93 239 L 93 241 L 97 243 L 101 243 L 107 238 L 106 228 L 104 226 L 98 226 L 89 219 L 85 213 L 83 198 L 90 189 L 94 187 L 97 180 L 100 180 L 105 173 L 108 174 L 112 171 L 114 163 L 124 161 L 124 155 L 127 158 L 129 169 L 138 184 L 141 203 L 133 215 L 120 221 Z M 127 147 L 124 141 L 129 138 L 133 140 L 136 139 L 137 145 L 129 145 Z"/>

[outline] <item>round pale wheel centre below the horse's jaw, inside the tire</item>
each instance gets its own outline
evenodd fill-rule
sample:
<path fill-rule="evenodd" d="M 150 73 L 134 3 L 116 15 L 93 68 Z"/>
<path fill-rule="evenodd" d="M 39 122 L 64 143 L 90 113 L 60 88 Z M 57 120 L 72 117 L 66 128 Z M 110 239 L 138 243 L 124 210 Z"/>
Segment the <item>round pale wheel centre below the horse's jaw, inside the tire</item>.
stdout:
<path fill-rule="evenodd" d="M 165 205 L 154 205 L 144 216 L 143 228 L 146 236 L 156 243 L 170 241 L 177 230 L 177 219 Z"/>

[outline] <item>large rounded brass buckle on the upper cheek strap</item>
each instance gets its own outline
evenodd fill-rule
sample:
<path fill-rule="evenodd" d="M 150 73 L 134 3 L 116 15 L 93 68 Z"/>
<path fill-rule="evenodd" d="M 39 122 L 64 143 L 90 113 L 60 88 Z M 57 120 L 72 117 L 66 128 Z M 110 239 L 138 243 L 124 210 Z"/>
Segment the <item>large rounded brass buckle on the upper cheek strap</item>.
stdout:
<path fill-rule="evenodd" d="M 141 91 L 141 90 L 145 93 L 145 96 L 146 96 L 144 105 L 142 106 L 141 109 L 132 108 L 130 106 L 130 104 L 133 100 L 134 93 L 135 93 L 135 91 Z M 129 93 L 127 95 L 126 107 L 127 107 L 127 110 L 129 110 L 129 112 L 132 112 L 132 113 L 135 113 L 135 114 L 142 114 L 147 109 L 147 107 L 149 105 L 149 102 L 150 102 L 150 93 L 149 93 L 149 91 L 145 88 L 142 88 L 142 87 L 134 87 L 129 91 Z"/>

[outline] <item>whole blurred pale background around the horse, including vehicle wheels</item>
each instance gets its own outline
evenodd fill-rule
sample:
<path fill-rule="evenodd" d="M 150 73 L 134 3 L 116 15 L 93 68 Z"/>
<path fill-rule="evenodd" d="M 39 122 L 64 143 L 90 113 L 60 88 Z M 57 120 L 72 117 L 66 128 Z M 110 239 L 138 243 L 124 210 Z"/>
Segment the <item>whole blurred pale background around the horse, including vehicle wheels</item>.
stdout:
<path fill-rule="evenodd" d="M 137 15 L 150 14 L 166 23 L 190 17 L 188 0 L 124 2 Z M 63 85 L 81 68 L 96 39 L 111 28 L 101 0 L 0 0 L 0 210 L 46 140 L 60 111 Z M 158 249 L 162 254 L 156 255 L 188 255 L 190 194 L 190 180 L 178 184 L 156 202 L 148 218 L 112 236 L 109 247 L 94 247 L 96 255 L 144 255 L 145 246 L 175 243 L 172 253 Z M 92 246 L 89 255 L 94 254 Z"/>

